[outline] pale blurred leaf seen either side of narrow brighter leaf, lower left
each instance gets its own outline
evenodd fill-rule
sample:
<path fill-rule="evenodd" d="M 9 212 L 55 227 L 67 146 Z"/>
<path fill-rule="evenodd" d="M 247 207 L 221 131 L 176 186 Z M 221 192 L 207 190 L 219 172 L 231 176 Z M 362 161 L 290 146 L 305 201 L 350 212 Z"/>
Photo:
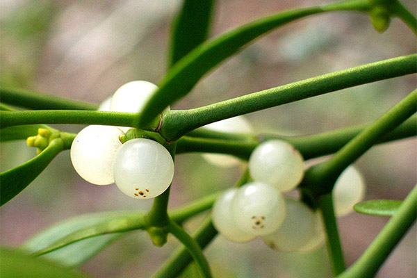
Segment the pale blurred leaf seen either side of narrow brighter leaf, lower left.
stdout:
<path fill-rule="evenodd" d="M 40 231 L 38 234 L 26 240 L 22 245 L 22 249 L 31 253 L 45 250 L 47 247 L 53 245 L 58 240 L 79 232 L 81 229 L 95 226 L 101 222 L 113 220 L 129 215 L 138 215 L 137 211 L 108 211 L 102 213 L 90 213 L 87 215 L 80 215 L 74 218 L 58 222 L 51 227 Z M 42 255 L 42 258 L 56 261 L 67 267 L 76 267 L 88 261 L 88 259 L 95 256 L 98 252 L 113 243 L 115 240 L 121 238 L 123 233 L 104 234 L 95 236 L 84 240 L 77 241 L 65 247 Z"/>

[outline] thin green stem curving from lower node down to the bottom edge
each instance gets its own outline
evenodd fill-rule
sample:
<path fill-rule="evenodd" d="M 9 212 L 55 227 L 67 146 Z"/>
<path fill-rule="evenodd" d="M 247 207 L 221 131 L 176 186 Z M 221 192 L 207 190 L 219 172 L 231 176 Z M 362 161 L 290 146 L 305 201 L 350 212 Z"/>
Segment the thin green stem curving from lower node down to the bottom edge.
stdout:
<path fill-rule="evenodd" d="M 199 270 L 202 272 L 203 277 L 210 278 L 210 267 L 197 241 L 173 221 L 170 222 L 169 231 L 187 248 L 195 263 L 198 265 Z"/>

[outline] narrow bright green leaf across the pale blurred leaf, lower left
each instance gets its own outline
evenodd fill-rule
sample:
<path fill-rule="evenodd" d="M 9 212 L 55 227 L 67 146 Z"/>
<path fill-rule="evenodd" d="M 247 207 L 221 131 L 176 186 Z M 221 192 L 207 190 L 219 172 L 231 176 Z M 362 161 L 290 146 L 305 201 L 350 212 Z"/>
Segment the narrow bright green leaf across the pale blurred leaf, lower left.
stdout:
<path fill-rule="evenodd" d="M 145 213 L 138 213 L 137 211 L 112 213 L 111 215 L 102 216 L 97 222 L 83 222 L 80 227 L 63 236 L 58 234 L 58 240 L 48 239 L 48 242 L 42 248 L 38 248 L 33 254 L 40 256 L 87 238 L 95 238 L 96 236 L 107 234 L 120 234 L 124 231 L 145 229 L 145 227 Z"/>

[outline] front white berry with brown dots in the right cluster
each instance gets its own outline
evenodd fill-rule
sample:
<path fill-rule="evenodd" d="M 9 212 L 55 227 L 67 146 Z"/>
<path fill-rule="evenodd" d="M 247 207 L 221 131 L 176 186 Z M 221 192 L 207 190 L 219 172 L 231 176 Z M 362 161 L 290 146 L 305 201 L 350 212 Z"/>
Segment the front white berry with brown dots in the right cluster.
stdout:
<path fill-rule="evenodd" d="M 231 213 L 236 226 L 247 234 L 270 234 L 284 221 L 284 197 L 266 183 L 247 183 L 236 193 Z"/>

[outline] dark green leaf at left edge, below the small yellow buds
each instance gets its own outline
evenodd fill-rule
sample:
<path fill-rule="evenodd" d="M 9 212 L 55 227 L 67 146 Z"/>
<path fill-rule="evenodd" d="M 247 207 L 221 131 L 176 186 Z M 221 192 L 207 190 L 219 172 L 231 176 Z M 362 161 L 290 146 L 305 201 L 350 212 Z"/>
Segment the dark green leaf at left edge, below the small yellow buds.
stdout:
<path fill-rule="evenodd" d="M 38 156 L 0 174 L 0 205 L 19 194 L 51 163 L 64 148 L 63 140 L 54 139 Z"/>

